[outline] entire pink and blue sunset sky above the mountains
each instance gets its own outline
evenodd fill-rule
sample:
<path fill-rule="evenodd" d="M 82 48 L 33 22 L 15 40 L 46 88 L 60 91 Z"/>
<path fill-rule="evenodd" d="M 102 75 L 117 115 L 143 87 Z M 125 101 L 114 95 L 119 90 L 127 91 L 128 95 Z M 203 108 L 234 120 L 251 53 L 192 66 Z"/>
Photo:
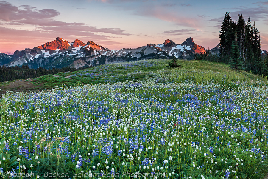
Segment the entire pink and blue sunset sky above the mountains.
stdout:
<path fill-rule="evenodd" d="M 90 40 L 109 49 L 177 44 L 192 37 L 206 49 L 219 43 L 226 12 L 242 14 L 268 50 L 268 1 L 8 0 L 0 1 L 0 52 L 33 48 L 57 37 Z"/>

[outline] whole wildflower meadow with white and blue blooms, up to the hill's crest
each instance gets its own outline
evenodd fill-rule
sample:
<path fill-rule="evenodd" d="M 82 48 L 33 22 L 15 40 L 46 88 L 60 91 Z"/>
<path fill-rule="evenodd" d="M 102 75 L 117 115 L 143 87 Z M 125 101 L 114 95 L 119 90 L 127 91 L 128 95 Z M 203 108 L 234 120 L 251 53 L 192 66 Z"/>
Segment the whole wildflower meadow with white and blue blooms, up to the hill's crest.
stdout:
<path fill-rule="evenodd" d="M 33 79 L 56 89 L 4 94 L 1 172 L 264 178 L 267 79 L 225 64 L 180 63 L 181 69 L 166 69 L 166 60 L 103 65 Z"/>

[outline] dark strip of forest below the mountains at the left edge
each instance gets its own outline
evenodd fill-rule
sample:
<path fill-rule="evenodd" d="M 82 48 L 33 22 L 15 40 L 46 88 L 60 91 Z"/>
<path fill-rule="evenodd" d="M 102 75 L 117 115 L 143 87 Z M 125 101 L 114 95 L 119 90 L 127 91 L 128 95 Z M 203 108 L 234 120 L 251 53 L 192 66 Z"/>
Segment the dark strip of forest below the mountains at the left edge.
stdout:
<path fill-rule="evenodd" d="M 36 78 L 43 75 L 54 75 L 57 73 L 64 73 L 64 72 L 74 72 L 78 70 L 83 70 L 89 67 L 81 67 L 81 68 L 74 68 L 74 67 L 63 67 L 63 68 L 52 68 L 52 69 L 45 69 L 39 67 L 37 69 L 29 68 L 28 65 L 14 66 L 14 67 L 4 67 L 0 66 L 0 82 L 4 81 L 11 81 L 11 80 L 18 80 L 18 79 L 28 79 L 28 78 Z"/>

